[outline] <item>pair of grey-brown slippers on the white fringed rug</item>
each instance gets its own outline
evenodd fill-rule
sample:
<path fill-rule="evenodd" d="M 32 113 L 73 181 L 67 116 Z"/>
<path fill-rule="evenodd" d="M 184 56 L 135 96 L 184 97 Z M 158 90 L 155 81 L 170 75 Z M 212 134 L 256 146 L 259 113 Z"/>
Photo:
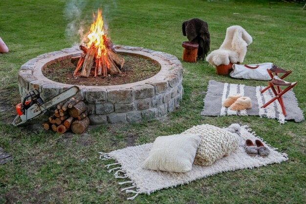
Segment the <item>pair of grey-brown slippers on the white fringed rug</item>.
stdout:
<path fill-rule="evenodd" d="M 247 139 L 245 140 L 245 152 L 254 157 L 256 155 L 259 155 L 261 157 L 267 157 L 270 154 L 270 150 L 268 147 L 265 147 L 261 140 L 256 139 L 255 144 L 252 142 L 252 140 Z"/>

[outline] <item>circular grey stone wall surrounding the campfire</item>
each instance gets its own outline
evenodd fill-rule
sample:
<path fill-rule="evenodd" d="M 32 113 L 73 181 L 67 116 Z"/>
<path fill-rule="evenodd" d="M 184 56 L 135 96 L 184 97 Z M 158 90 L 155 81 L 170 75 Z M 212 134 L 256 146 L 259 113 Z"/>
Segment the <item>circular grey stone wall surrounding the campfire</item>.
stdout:
<path fill-rule="evenodd" d="M 182 99 L 182 65 L 171 54 L 142 47 L 116 46 L 118 53 L 137 55 L 160 64 L 153 77 L 124 85 L 78 86 L 87 104 L 91 125 L 103 123 L 130 123 L 167 115 L 179 106 Z M 49 100 L 73 85 L 47 79 L 42 69 L 49 65 L 79 56 L 78 47 L 66 48 L 37 56 L 22 65 L 18 73 L 19 91 L 23 97 L 38 89 L 44 101 Z M 71 73 L 72 74 L 72 73 Z"/>

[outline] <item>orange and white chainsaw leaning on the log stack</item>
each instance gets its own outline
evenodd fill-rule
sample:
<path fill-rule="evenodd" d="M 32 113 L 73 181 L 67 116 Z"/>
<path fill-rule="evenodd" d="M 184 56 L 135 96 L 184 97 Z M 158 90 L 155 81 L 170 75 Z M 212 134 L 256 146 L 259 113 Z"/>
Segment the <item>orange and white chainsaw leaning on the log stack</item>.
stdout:
<path fill-rule="evenodd" d="M 79 92 L 79 88 L 73 86 L 68 90 L 58 94 L 54 98 L 50 99 L 47 102 L 44 102 L 40 97 L 40 93 L 37 89 L 30 91 L 24 98 L 22 103 L 16 106 L 17 115 L 13 119 L 12 124 L 14 126 L 21 125 L 27 120 L 33 119 L 38 116 L 40 113 L 48 110 L 52 106 L 55 106 L 66 99 L 74 96 Z M 21 121 L 20 121 L 21 120 Z M 18 122 L 19 121 L 19 122 Z"/>

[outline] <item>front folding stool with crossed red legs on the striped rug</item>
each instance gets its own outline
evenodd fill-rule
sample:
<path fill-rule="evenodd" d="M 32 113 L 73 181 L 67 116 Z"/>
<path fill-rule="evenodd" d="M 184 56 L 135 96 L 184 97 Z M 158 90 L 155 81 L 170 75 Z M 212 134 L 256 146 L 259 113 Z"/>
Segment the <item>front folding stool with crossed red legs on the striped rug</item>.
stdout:
<path fill-rule="evenodd" d="M 278 100 L 278 102 L 280 103 L 280 105 L 282 107 L 283 114 L 284 114 L 284 116 L 286 116 L 286 110 L 285 110 L 284 101 L 283 101 L 282 96 L 285 94 L 285 92 L 287 92 L 290 89 L 292 89 L 293 87 L 295 87 L 295 85 L 297 83 L 298 82 L 292 82 L 292 83 L 286 82 L 283 79 L 281 79 L 280 77 L 274 76 L 272 81 L 268 81 L 269 86 L 267 88 L 268 89 L 271 88 L 271 90 L 273 91 L 275 97 L 272 98 L 270 101 L 268 101 L 266 104 L 264 104 L 262 106 L 262 108 L 265 108 L 268 105 L 270 105 L 273 101 Z M 274 86 L 276 86 L 277 89 L 275 89 Z M 282 91 L 280 86 L 285 86 L 287 88 L 285 88 L 284 91 Z"/>

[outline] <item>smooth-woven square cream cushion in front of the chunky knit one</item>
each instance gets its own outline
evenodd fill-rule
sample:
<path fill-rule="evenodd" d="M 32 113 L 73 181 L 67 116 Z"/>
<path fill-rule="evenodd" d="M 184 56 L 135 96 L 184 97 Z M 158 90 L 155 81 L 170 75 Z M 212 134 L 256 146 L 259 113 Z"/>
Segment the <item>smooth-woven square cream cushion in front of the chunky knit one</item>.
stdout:
<path fill-rule="evenodd" d="M 188 172 L 194 162 L 199 135 L 159 136 L 155 139 L 142 168 L 169 172 Z"/>

